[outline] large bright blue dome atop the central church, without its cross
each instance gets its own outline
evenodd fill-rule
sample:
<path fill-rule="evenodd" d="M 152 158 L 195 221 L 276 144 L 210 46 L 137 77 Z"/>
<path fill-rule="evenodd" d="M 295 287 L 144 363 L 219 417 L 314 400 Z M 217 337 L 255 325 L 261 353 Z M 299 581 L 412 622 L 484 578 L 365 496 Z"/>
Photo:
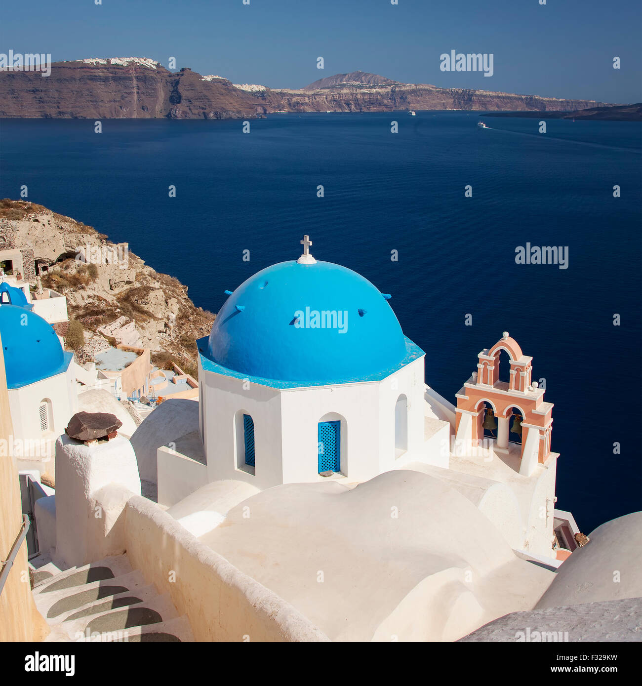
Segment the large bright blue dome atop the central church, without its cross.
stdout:
<path fill-rule="evenodd" d="M 228 292 L 226 292 L 228 293 Z M 285 386 L 382 379 L 423 355 L 364 276 L 331 262 L 281 262 L 242 283 L 220 309 L 204 368 Z M 205 350 L 206 344 L 206 350 Z"/>

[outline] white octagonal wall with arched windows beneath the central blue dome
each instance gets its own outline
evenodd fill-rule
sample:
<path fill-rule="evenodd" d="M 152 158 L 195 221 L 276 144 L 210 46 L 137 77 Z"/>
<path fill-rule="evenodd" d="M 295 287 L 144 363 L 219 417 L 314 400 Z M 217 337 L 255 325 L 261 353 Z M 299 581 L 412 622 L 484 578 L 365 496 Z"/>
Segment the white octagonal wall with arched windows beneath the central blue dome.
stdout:
<path fill-rule="evenodd" d="M 423 357 L 383 381 L 275 389 L 200 372 L 201 425 L 209 480 L 246 481 L 263 490 L 278 484 L 316 482 L 318 423 L 341 421 L 341 471 L 365 481 L 395 469 L 397 460 L 424 456 Z M 395 452 L 395 405 L 407 397 L 407 453 Z M 255 469 L 237 464 L 243 440 L 235 416 L 254 421 Z"/>

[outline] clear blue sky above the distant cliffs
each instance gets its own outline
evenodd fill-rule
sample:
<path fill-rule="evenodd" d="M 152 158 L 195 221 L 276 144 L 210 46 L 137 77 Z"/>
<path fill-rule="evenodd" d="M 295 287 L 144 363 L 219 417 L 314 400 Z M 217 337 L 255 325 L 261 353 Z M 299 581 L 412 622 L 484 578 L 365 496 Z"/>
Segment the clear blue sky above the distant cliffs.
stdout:
<path fill-rule="evenodd" d="M 300 88 L 346 71 L 442 87 L 639 102 L 639 0 L 5 0 L 0 52 L 151 57 L 233 82 Z M 495 73 L 440 54 L 494 55 Z M 316 69 L 316 58 L 325 60 Z M 613 57 L 621 69 L 613 69 Z"/>

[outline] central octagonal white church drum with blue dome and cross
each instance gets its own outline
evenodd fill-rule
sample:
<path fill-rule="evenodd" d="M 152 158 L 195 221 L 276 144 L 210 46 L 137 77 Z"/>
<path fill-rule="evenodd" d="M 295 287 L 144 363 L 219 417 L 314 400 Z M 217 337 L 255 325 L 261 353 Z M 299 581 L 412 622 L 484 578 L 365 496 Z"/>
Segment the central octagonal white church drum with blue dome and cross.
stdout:
<path fill-rule="evenodd" d="M 423 451 L 425 353 L 389 295 L 308 245 L 239 286 L 198 341 L 211 481 L 359 482 Z"/>

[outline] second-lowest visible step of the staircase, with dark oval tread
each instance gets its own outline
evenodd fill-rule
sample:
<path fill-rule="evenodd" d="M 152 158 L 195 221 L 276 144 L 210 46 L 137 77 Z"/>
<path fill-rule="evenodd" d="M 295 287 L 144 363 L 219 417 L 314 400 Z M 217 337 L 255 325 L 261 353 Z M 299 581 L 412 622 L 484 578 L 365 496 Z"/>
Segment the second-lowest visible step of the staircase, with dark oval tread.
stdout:
<path fill-rule="evenodd" d="M 159 625 L 177 617 L 169 594 L 156 595 L 150 600 L 124 606 L 108 612 L 98 611 L 81 619 L 56 624 L 51 630 L 53 641 L 80 641 L 82 639 L 109 641 L 128 639 L 134 629 L 141 626 Z M 120 632 L 120 633 L 119 633 Z M 98 637 L 97 635 L 101 635 Z M 112 637 L 112 638 L 110 638 Z"/>

